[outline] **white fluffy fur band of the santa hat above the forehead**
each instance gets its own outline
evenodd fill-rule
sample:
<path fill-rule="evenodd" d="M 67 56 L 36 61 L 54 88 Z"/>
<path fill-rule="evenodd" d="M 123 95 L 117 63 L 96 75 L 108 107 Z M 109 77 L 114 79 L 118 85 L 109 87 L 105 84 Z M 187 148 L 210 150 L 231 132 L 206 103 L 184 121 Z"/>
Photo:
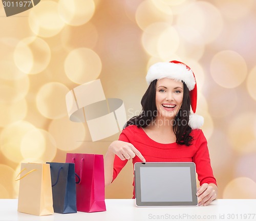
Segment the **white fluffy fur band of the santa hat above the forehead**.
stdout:
<path fill-rule="evenodd" d="M 162 78 L 171 78 L 178 81 L 184 81 L 189 91 L 193 90 L 196 80 L 192 70 L 187 69 L 186 65 L 172 62 L 158 62 L 148 69 L 146 81 L 148 85 Z"/>

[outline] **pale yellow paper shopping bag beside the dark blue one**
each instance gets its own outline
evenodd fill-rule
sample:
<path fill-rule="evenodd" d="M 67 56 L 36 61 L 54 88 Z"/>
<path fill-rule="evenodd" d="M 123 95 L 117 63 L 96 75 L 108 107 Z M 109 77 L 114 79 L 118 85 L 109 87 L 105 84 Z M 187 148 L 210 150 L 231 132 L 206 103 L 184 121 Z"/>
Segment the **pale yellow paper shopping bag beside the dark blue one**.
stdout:
<path fill-rule="evenodd" d="M 50 165 L 22 163 L 18 175 L 18 212 L 33 215 L 53 214 Z"/>

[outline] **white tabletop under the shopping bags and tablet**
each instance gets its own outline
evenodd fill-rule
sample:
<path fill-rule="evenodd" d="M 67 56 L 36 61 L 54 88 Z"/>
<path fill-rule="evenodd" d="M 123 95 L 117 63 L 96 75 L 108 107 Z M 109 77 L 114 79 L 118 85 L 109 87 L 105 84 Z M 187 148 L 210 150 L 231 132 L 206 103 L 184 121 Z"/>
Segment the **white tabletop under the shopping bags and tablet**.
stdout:
<path fill-rule="evenodd" d="M 17 200 L 0 199 L 0 221 L 256 220 L 256 200 L 215 200 L 206 207 L 136 207 L 135 200 L 105 202 L 105 212 L 35 216 L 17 212 Z"/>

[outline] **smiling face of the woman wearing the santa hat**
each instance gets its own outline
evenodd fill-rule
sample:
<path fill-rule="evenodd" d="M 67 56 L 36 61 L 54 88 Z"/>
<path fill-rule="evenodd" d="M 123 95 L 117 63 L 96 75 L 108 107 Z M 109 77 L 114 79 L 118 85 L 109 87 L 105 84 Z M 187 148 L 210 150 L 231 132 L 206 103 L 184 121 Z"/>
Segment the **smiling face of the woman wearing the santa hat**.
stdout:
<path fill-rule="evenodd" d="M 183 99 L 183 83 L 169 78 L 157 80 L 156 106 L 158 117 L 174 119 Z"/>

